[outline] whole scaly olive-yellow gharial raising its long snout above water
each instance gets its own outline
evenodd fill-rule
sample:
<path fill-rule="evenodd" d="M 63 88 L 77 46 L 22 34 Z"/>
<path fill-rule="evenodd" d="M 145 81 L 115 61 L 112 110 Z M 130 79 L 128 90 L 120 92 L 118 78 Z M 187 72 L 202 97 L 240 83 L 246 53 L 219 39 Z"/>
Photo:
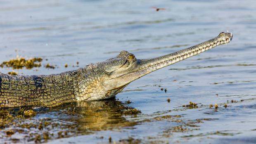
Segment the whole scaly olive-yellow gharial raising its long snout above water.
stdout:
<path fill-rule="evenodd" d="M 52 107 L 66 102 L 108 99 L 132 81 L 228 43 L 232 36 L 222 32 L 211 40 L 153 59 L 136 59 L 133 54 L 121 51 L 114 58 L 60 74 L 10 76 L 0 73 L 0 107 Z"/>

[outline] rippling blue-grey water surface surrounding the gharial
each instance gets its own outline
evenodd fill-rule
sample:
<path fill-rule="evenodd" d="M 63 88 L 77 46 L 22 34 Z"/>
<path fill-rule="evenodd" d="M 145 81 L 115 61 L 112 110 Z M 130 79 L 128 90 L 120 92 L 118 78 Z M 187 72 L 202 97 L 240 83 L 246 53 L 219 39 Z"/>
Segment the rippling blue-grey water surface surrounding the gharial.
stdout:
<path fill-rule="evenodd" d="M 83 67 L 115 57 L 121 50 L 147 59 L 222 31 L 234 35 L 228 45 L 134 81 L 114 99 L 36 109 L 37 116 L 23 123 L 48 118 L 61 125 L 41 130 L 53 134 L 48 143 L 109 143 L 109 137 L 116 143 L 256 142 L 254 0 L 2 0 L 0 19 L 0 62 L 19 55 L 43 57 L 43 65 L 57 66 L 18 70 L 22 75 L 74 70 L 76 61 Z M 128 100 L 132 103 L 127 104 Z M 183 107 L 190 101 L 199 108 Z M 218 109 L 210 109 L 210 104 L 218 104 Z M 142 113 L 125 116 L 122 106 Z M 32 129 L 7 137 L 7 129 L 1 130 L 0 143 L 33 143 L 27 142 L 28 135 L 40 133 Z M 59 131 L 67 132 L 64 138 L 58 137 Z"/>

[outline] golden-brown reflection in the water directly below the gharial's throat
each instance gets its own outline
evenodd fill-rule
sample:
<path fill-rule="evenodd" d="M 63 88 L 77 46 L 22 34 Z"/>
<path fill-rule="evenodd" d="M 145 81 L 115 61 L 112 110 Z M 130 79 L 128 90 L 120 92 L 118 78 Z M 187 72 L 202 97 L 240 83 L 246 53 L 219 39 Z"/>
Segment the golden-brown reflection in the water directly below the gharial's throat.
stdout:
<path fill-rule="evenodd" d="M 128 109 L 121 102 L 112 99 L 95 102 L 79 102 L 78 113 L 81 117 L 77 120 L 79 130 L 112 130 L 113 128 L 136 125 L 124 117 Z"/>

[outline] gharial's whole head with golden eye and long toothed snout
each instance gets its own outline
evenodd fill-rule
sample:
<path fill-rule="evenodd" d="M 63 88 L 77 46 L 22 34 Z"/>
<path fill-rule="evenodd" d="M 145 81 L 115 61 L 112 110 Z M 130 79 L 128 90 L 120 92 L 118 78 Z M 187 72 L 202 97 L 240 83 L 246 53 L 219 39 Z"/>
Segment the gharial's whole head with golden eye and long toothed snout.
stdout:
<path fill-rule="evenodd" d="M 218 45 L 228 43 L 232 40 L 232 36 L 232 33 L 220 33 L 217 37 L 206 42 L 153 59 L 136 59 L 134 54 L 121 51 L 116 57 L 97 63 L 97 66 L 101 69 L 101 75 L 97 80 L 97 85 L 99 89 L 104 89 L 103 91 L 105 93 L 108 92 L 105 96 L 97 99 L 114 96 L 132 81 L 152 71 L 192 57 Z"/>

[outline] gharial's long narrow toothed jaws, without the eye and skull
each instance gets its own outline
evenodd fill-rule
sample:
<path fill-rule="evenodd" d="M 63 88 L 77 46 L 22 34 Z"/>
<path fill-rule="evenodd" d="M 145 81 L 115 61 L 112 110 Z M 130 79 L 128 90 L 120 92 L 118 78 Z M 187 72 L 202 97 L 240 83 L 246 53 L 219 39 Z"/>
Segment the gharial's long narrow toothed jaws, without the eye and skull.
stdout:
<path fill-rule="evenodd" d="M 136 59 L 135 65 L 130 71 L 124 71 L 119 76 L 104 80 L 102 85 L 107 89 L 119 88 L 128 83 L 145 76 L 152 71 L 156 71 L 165 66 L 169 66 L 178 61 L 182 61 L 194 55 L 200 54 L 206 50 L 210 50 L 218 45 L 229 43 L 232 40 L 232 33 L 220 33 L 217 37 L 207 40 L 198 45 L 188 47 L 186 49 L 167 54 L 153 59 Z"/>

